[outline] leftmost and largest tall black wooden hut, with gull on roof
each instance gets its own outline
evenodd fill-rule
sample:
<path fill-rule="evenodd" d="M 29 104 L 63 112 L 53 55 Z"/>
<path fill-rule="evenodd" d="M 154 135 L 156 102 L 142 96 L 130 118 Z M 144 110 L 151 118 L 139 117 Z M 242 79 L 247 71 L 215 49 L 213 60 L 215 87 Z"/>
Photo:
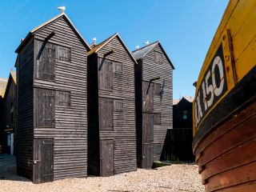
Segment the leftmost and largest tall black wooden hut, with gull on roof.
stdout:
<path fill-rule="evenodd" d="M 34 183 L 87 175 L 87 50 L 64 13 L 16 50 L 17 171 Z"/>

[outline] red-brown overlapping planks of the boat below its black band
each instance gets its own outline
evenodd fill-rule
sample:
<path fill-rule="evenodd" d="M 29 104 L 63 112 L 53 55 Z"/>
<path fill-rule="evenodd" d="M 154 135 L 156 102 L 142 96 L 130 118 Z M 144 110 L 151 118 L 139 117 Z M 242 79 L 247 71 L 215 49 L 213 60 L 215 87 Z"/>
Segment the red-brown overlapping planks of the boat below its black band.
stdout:
<path fill-rule="evenodd" d="M 251 191 L 255 185 L 255 106 L 254 98 L 250 106 L 222 123 L 195 150 L 206 191 Z"/>

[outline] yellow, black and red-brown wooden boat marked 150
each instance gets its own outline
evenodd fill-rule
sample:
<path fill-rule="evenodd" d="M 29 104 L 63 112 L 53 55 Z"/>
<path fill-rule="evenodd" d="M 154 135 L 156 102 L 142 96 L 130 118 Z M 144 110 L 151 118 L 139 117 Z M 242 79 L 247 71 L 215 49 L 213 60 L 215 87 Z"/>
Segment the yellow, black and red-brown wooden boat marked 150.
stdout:
<path fill-rule="evenodd" d="M 199 74 L 193 150 L 206 191 L 256 190 L 255 21 L 255 1 L 230 0 Z"/>

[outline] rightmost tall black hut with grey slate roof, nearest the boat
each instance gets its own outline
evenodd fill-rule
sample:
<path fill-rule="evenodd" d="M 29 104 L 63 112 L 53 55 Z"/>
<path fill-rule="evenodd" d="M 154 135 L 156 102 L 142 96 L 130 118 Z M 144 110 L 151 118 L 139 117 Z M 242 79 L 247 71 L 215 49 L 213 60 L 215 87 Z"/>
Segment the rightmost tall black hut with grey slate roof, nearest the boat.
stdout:
<path fill-rule="evenodd" d="M 134 50 L 137 163 L 151 168 L 160 160 L 166 130 L 172 128 L 173 70 L 160 42 Z"/>

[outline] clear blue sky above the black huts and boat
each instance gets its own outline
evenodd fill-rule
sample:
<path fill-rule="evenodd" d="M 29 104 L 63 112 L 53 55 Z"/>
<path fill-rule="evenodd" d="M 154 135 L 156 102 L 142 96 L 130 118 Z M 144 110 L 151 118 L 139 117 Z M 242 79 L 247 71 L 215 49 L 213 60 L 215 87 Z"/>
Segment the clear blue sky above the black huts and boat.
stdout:
<path fill-rule="evenodd" d="M 2 0 L 0 78 L 8 78 L 14 67 L 21 38 L 59 14 L 57 6 L 66 6 L 66 14 L 89 43 L 115 32 L 130 50 L 147 40 L 160 40 L 175 66 L 174 98 L 194 97 L 192 84 L 227 4 L 228 0 Z"/>

